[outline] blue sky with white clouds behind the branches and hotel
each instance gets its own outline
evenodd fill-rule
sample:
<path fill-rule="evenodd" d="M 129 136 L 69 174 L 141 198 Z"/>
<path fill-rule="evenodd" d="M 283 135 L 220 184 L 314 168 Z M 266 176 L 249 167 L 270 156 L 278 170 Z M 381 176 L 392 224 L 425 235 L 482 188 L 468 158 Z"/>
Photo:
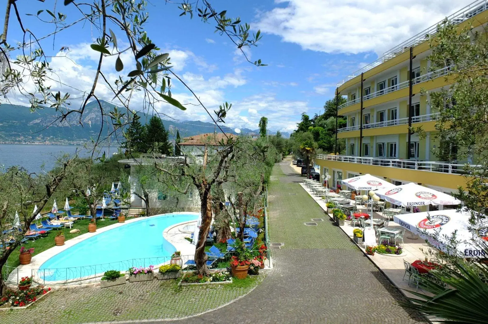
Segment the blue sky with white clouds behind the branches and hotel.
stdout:
<path fill-rule="evenodd" d="M 66 14 L 67 21 L 80 17 L 73 6 L 64 7 L 62 1 L 58 2 L 56 11 Z M 227 10 L 228 16 L 240 16 L 253 30 L 261 29 L 262 41 L 248 53 L 252 61 L 261 59 L 268 64 L 265 67 L 245 62 L 234 44 L 214 33 L 214 24 L 205 24 L 196 15 L 193 20 L 179 17 L 181 10 L 176 4 L 153 2 L 155 5 L 148 5 L 148 36 L 163 52 L 170 53 L 175 71 L 208 108 L 228 101 L 233 104 L 228 125 L 255 129 L 261 116 L 266 116 L 271 130 L 290 132 L 303 112 L 313 116 L 323 111 L 338 81 L 471 1 L 211 1 L 218 11 Z M 24 26 L 37 37 L 52 32 L 52 24 L 25 14 L 36 14 L 46 7 L 54 11 L 54 5 L 51 0 L 18 1 Z M 46 12 L 40 17 L 50 20 Z M 8 41 L 15 44 L 21 40 L 21 33 L 12 17 L 10 24 Z M 53 38 L 42 42 L 49 55 L 57 56 L 51 65 L 59 80 L 77 88 L 78 94 L 88 91 L 91 85 L 90 76 L 98 59 L 89 48 L 93 41 L 91 26 L 77 24 L 58 33 L 54 45 Z M 68 46 L 70 52 L 59 53 L 61 46 Z M 130 71 L 126 65 L 123 73 Z M 113 61 L 107 60 L 103 69 L 107 75 L 117 77 Z M 52 86 L 77 97 L 78 90 L 55 83 Z M 102 98 L 111 99 L 102 86 L 98 91 Z M 193 102 L 181 84 L 175 83 L 172 92 L 182 102 Z M 28 104 L 15 94 L 9 100 Z M 80 100 L 73 100 L 74 106 L 79 103 Z M 139 109 L 137 98 L 131 108 Z M 169 106 L 158 110 L 181 121 L 209 121 L 201 107 L 192 106 L 185 112 Z"/>

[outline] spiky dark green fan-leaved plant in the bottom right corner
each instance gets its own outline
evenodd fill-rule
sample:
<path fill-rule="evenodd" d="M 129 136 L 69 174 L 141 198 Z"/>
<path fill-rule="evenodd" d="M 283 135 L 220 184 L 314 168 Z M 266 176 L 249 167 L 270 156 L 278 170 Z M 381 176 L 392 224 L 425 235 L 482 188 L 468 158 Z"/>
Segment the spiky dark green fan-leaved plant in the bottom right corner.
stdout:
<path fill-rule="evenodd" d="M 487 267 L 453 261 L 443 268 L 432 271 L 431 276 L 419 276 L 419 286 L 433 296 L 408 290 L 418 298 L 408 298 L 411 304 L 400 304 L 437 317 L 437 323 L 488 324 Z"/>

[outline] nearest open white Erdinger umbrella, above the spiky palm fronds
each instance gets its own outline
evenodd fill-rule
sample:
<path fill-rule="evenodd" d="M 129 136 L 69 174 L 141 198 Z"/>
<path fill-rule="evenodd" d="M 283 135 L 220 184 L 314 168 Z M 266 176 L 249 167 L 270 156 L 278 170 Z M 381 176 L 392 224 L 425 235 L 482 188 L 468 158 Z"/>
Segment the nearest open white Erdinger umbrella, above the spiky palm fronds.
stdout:
<path fill-rule="evenodd" d="M 400 214 L 394 216 L 395 223 L 405 227 L 427 240 L 428 243 L 446 253 L 457 252 L 465 258 L 487 258 L 486 251 L 471 244 L 476 233 L 468 230 L 470 213 L 467 208 L 436 210 L 423 213 Z M 477 234 L 481 240 L 488 240 L 487 226 L 479 228 Z M 448 251 L 447 241 L 456 231 L 456 240 L 463 241 L 457 245 L 458 251 Z M 432 235 L 435 236 L 431 237 Z"/>

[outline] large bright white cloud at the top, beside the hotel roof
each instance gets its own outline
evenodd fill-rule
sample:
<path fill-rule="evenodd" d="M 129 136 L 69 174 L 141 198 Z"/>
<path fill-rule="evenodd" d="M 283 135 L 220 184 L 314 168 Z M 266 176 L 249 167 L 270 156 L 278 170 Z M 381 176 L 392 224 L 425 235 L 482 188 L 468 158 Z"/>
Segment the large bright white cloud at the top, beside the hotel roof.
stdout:
<path fill-rule="evenodd" d="M 275 0 L 256 24 L 304 49 L 380 55 L 472 0 Z M 285 6 L 283 6 L 285 4 Z"/>

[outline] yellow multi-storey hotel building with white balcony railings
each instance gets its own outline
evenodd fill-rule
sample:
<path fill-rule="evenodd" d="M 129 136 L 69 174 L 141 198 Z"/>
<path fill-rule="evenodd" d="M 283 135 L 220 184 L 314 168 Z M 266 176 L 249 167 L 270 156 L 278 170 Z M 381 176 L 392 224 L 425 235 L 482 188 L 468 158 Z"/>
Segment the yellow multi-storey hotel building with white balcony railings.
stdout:
<path fill-rule="evenodd" d="M 463 28 L 480 28 L 487 22 L 488 1 L 478 0 L 447 17 Z M 429 106 L 421 88 L 436 91 L 448 87 L 448 66 L 429 72 L 429 37 L 435 37 L 437 23 L 387 51 L 337 84 L 337 93 L 347 96 L 338 115 L 347 126 L 337 132 L 346 141 L 345 155 L 318 155 L 315 163 L 321 175 L 328 174 L 329 187 L 342 179 L 369 173 L 394 184 L 416 182 L 451 193 L 465 185 L 463 165 L 470 161 L 443 163 L 432 149 L 438 112 Z M 429 36 L 426 36 L 429 35 Z M 409 108 L 410 107 L 410 108 Z M 427 137 L 409 134 L 409 125 L 422 126 Z"/>

